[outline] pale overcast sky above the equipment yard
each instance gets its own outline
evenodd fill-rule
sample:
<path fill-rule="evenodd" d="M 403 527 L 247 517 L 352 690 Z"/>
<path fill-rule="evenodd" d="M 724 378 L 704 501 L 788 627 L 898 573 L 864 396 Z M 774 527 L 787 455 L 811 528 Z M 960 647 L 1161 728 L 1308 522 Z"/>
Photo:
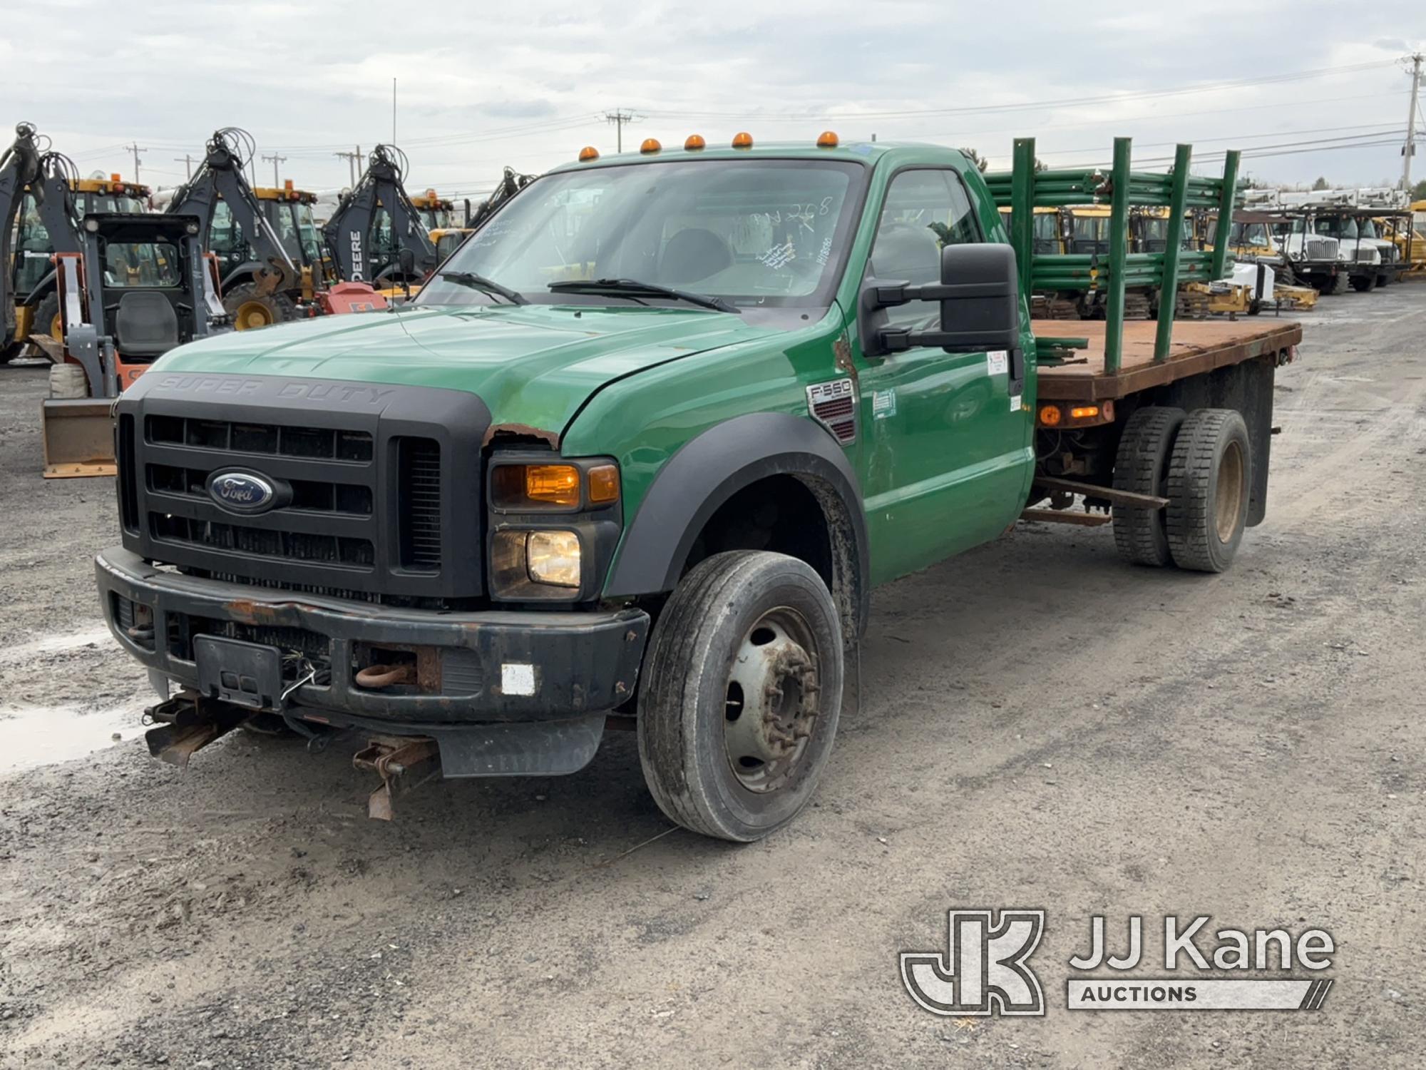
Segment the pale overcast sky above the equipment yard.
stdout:
<path fill-rule="evenodd" d="M 409 184 L 479 194 L 580 146 L 702 133 L 971 146 L 1008 165 L 1034 136 L 1054 165 L 1243 148 L 1268 181 L 1400 177 L 1409 53 L 1426 3 L 7 3 L 0 123 L 30 120 L 80 170 L 184 177 L 217 127 L 252 133 L 282 177 L 348 181 L 337 151 L 392 138 Z M 1422 93 L 1426 98 L 1426 87 Z M 1417 121 L 1426 127 L 1426 118 Z M 271 161 L 257 161 L 270 181 Z M 1198 168 L 1202 170 L 1202 168 Z M 1415 175 L 1426 177 L 1426 144 Z"/>

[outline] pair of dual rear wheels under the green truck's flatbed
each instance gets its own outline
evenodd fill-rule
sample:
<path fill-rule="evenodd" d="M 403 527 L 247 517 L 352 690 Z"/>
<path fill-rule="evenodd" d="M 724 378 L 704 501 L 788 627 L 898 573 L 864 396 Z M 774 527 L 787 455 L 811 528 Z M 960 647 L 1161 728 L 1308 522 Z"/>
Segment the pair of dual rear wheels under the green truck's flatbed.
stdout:
<path fill-rule="evenodd" d="M 1114 488 L 1168 505 L 1115 505 L 1115 548 L 1135 565 L 1224 572 L 1242 542 L 1251 486 L 1252 448 L 1236 409 L 1141 408 L 1119 439 Z"/>

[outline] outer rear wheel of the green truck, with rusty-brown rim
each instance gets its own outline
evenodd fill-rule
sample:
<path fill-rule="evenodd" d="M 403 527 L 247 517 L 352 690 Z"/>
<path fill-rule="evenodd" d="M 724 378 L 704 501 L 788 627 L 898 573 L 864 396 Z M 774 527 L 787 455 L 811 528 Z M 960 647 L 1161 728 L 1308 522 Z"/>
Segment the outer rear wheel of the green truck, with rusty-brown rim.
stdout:
<path fill-rule="evenodd" d="M 1248 521 L 1252 447 L 1248 425 L 1231 408 L 1188 414 L 1168 465 L 1168 528 L 1174 564 L 1192 572 L 1225 572 Z"/>

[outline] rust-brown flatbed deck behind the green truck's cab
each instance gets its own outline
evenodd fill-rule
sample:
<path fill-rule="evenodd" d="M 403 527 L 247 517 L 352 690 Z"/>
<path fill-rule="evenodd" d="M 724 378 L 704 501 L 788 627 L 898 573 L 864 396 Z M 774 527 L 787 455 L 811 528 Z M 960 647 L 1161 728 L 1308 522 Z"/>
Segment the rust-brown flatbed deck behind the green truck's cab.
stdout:
<path fill-rule="evenodd" d="M 1168 360 L 1154 361 L 1152 320 L 1124 322 L 1124 348 L 1117 372 L 1104 370 L 1102 320 L 1035 320 L 1037 338 L 1088 338 L 1088 350 L 1075 350 L 1084 364 L 1040 368 L 1040 397 L 1047 401 L 1101 401 L 1124 398 L 1152 387 L 1279 354 L 1302 341 L 1302 327 L 1291 320 L 1179 320 Z"/>

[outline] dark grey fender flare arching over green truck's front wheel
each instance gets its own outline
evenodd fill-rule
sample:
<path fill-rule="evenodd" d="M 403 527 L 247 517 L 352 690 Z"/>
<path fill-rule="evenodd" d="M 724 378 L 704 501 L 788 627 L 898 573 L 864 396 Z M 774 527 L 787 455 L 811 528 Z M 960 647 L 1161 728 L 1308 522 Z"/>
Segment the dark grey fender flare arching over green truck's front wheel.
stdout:
<path fill-rule="evenodd" d="M 850 641 L 866 626 L 870 556 L 857 475 L 831 435 L 806 417 L 752 412 L 683 445 L 653 479 L 625 532 L 609 598 L 672 591 L 694 539 L 737 491 L 770 475 L 801 481 L 834 532 L 833 596 Z"/>

